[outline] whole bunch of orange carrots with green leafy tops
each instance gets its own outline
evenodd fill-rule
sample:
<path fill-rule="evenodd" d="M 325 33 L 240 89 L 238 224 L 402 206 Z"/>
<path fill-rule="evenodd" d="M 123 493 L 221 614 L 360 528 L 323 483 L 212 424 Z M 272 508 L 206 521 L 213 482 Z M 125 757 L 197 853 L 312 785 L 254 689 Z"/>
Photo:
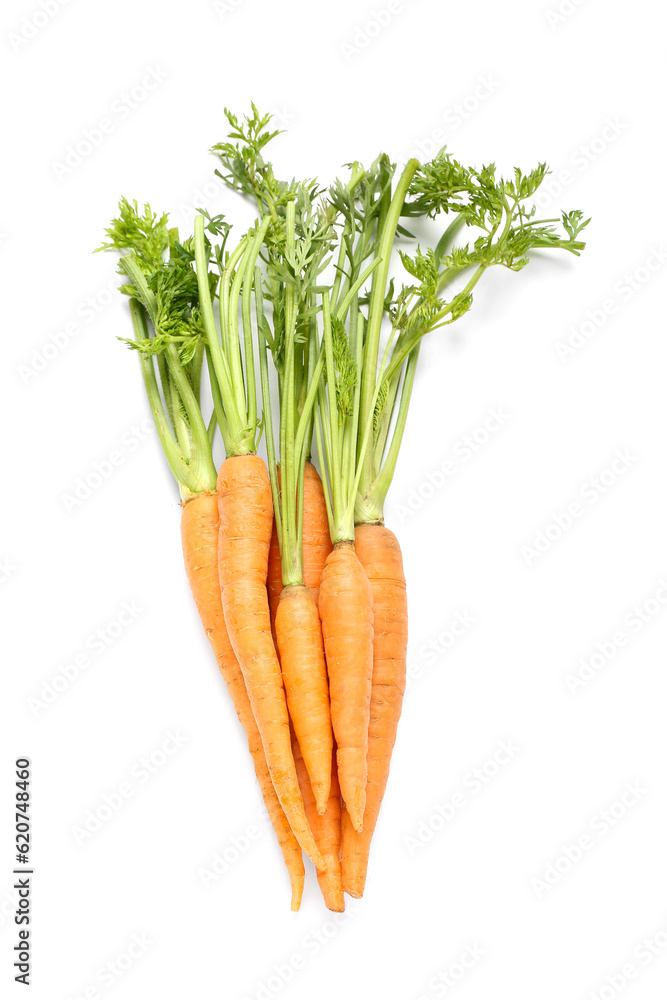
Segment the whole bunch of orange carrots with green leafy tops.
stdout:
<path fill-rule="evenodd" d="M 587 222 L 535 219 L 544 164 L 506 180 L 446 149 L 400 174 L 383 154 L 327 188 L 280 181 L 263 154 L 278 134 L 270 116 L 225 113 L 216 172 L 256 205 L 250 230 L 234 242 L 225 218 L 201 209 L 182 240 L 167 215 L 122 199 L 100 249 L 121 253 L 126 343 L 179 486 L 188 580 L 292 909 L 305 852 L 340 911 L 345 893 L 364 892 L 405 689 L 405 576 L 383 508 L 421 339 L 467 312 L 489 267 L 519 270 L 539 248 L 578 254 Z M 404 223 L 441 215 L 452 219 L 435 246 L 410 255 Z M 465 228 L 474 239 L 462 243 Z"/>

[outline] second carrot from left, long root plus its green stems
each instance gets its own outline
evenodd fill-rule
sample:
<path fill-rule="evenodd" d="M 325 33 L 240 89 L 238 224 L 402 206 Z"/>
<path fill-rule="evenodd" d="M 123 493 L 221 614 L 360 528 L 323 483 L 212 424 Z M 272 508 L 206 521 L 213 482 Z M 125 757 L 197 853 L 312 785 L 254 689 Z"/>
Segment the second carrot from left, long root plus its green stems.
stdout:
<path fill-rule="evenodd" d="M 218 574 L 229 638 L 246 683 L 273 787 L 300 847 L 320 868 L 324 861 L 306 819 L 292 757 L 285 689 L 271 635 L 266 591 L 273 504 L 266 465 L 256 454 L 259 419 L 251 304 L 254 294 L 256 308 L 260 308 L 257 258 L 269 222 L 267 217 L 253 228 L 226 258 L 222 248 L 215 257 L 220 270 L 219 281 L 216 277 L 213 285 L 220 305 L 218 332 L 208 271 L 206 223 L 201 215 L 195 219 L 193 249 L 199 315 L 206 338 L 216 420 L 227 454 L 216 484 L 220 517 Z"/>

